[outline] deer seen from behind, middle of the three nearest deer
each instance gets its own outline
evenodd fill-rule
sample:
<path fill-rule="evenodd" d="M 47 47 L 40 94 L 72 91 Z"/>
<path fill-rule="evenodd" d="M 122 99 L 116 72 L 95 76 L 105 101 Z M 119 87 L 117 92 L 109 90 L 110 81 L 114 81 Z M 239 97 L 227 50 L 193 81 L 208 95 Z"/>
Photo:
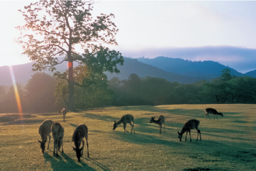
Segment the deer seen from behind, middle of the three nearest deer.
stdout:
<path fill-rule="evenodd" d="M 59 156 L 58 150 L 60 150 L 61 146 L 62 146 L 61 152 L 63 153 L 64 127 L 62 127 L 59 122 L 55 122 L 52 125 L 52 132 L 53 132 L 53 140 L 54 140 L 53 154 L 55 154 L 55 149 L 56 149 L 56 156 Z"/>

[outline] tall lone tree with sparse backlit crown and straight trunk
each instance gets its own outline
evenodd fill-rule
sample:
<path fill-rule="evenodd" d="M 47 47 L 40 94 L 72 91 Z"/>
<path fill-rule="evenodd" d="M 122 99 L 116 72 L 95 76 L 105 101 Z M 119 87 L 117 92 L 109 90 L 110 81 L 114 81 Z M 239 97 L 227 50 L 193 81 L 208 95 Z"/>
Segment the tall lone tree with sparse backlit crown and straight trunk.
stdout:
<path fill-rule="evenodd" d="M 102 46 L 102 44 L 117 44 L 114 36 L 118 29 L 110 20 L 114 17 L 113 14 L 102 14 L 93 20 L 91 0 L 38 0 L 24 8 L 26 11 L 23 12 L 23 17 L 26 24 L 17 27 L 22 31 L 19 42 L 23 44 L 23 54 L 36 62 L 33 65 L 34 71 L 47 68 L 49 71 L 55 71 L 56 65 L 64 61 L 68 62 L 67 77 L 58 72 L 56 75 L 59 74 L 59 77 L 68 81 L 69 111 L 75 109 L 74 85 L 81 86 L 73 78 L 74 61 L 86 63 L 88 60 L 93 60 L 94 63 L 97 59 L 98 71 L 120 72 L 116 64 L 124 64 L 121 53 Z M 75 51 L 77 47 L 84 51 L 83 55 Z M 63 55 L 64 60 L 59 61 L 58 56 Z M 93 83 L 92 80 L 90 84 Z"/>

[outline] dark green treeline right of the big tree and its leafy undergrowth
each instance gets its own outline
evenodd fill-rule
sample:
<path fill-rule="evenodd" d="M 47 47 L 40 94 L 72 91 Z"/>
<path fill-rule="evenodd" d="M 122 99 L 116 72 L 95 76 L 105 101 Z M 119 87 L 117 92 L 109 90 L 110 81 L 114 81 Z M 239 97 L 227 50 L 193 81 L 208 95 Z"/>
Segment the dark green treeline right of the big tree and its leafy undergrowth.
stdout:
<path fill-rule="evenodd" d="M 113 106 L 256 103 L 256 79 L 231 76 L 228 68 L 219 78 L 178 84 L 147 76 L 139 78 L 132 73 L 128 79 L 113 78 L 109 82 L 115 92 Z"/>

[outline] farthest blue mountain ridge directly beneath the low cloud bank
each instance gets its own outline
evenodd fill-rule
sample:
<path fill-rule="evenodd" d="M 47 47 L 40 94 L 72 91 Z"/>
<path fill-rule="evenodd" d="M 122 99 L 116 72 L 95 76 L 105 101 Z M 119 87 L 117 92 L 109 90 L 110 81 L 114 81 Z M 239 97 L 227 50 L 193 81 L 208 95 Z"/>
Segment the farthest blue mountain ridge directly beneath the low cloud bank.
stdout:
<path fill-rule="evenodd" d="M 146 63 L 148 65 L 156 66 L 163 71 L 178 73 L 184 76 L 201 76 L 207 79 L 213 79 L 221 75 L 221 71 L 225 68 L 229 68 L 225 65 L 214 61 L 191 61 L 184 60 L 181 58 L 172 57 L 156 57 L 153 59 L 148 58 L 137 58 L 141 63 Z M 233 68 L 229 68 L 231 75 L 244 76 L 243 73 L 239 73 Z"/>

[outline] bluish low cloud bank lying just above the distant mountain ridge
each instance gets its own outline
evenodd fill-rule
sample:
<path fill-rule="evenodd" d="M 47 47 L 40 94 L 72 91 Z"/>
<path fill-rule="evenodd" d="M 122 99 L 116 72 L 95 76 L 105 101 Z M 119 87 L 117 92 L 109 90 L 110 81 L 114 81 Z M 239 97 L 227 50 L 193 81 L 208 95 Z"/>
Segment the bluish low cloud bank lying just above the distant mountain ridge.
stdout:
<path fill-rule="evenodd" d="M 246 73 L 256 69 L 256 49 L 242 47 L 184 47 L 121 51 L 126 57 L 173 57 L 192 61 L 212 60 Z"/>

